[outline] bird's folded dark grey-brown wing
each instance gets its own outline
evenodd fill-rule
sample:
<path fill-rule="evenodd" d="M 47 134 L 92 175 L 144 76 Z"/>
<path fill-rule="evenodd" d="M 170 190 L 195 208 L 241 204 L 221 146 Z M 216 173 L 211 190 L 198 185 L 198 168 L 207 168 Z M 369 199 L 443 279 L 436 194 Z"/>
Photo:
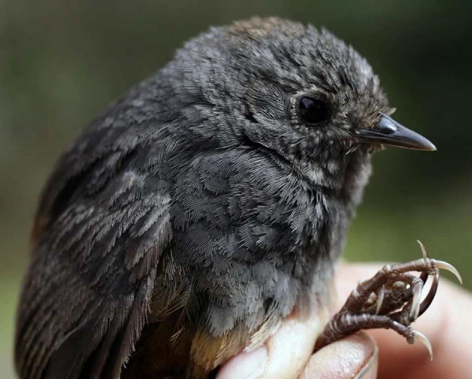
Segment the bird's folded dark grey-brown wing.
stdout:
<path fill-rule="evenodd" d="M 150 172 L 172 141 L 110 118 L 64 153 L 42 196 L 18 307 L 20 378 L 118 378 L 143 328 L 172 238 L 170 196 Z"/>

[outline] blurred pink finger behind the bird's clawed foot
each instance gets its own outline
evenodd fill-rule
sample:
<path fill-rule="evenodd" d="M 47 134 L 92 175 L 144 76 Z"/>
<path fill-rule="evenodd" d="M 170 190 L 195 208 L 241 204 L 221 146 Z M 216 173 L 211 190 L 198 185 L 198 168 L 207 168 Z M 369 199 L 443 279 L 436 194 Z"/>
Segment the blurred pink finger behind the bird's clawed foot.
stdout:
<path fill-rule="evenodd" d="M 338 308 L 358 280 L 372 276 L 383 265 L 341 264 L 336 283 Z M 431 307 L 413 324 L 431 341 L 433 362 L 430 362 L 428 351 L 422 344 L 409 345 L 389 330 L 372 330 L 368 333 L 374 336 L 379 346 L 379 378 L 405 377 L 406 373 L 409 378 L 416 370 L 417 379 L 467 378 L 465 365 L 471 354 L 468 341 L 472 339 L 472 331 L 467 325 L 471 312 L 471 295 L 441 278 Z"/>

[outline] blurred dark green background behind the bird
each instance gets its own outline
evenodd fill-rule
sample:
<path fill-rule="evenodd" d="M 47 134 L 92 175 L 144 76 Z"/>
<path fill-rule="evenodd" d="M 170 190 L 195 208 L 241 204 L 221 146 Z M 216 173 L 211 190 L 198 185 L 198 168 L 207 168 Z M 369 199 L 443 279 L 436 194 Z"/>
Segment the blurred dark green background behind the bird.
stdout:
<path fill-rule="evenodd" d="M 0 367 L 39 191 L 65 145 L 210 25 L 277 15 L 325 26 L 371 63 L 395 118 L 438 148 L 388 149 L 351 227 L 350 260 L 430 255 L 472 288 L 472 2 L 453 0 L 0 1 Z"/>

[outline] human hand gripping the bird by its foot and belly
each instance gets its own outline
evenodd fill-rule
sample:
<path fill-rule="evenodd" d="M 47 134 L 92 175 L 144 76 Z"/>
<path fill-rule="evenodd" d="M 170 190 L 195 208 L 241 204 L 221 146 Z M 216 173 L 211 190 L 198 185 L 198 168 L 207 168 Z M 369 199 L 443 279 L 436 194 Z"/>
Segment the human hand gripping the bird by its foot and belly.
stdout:
<path fill-rule="evenodd" d="M 341 263 L 336 276 L 334 311 L 342 306 L 359 280 L 372 277 L 383 265 Z M 313 354 L 306 366 L 300 367 L 302 360 L 297 359 L 297 354 L 302 356 L 300 349 L 310 348 L 308 338 L 319 326 L 313 320 L 292 321 L 290 326 L 282 325 L 289 333 L 282 329 L 283 336 L 274 336 L 283 343 L 239 354 L 220 369 L 217 378 L 269 378 L 274 366 L 280 367 L 281 360 L 286 362 L 282 378 L 300 374 L 304 379 L 343 379 L 356 375 L 362 379 L 470 378 L 472 348 L 468 341 L 472 339 L 472 331 L 467 326 L 471 314 L 471 294 L 441 278 L 433 304 L 413 325 L 431 342 L 433 360 L 422 343 L 417 341 L 410 345 L 393 331 L 382 329 L 357 333 L 332 343 Z M 293 353 L 293 345 L 303 347 Z"/>

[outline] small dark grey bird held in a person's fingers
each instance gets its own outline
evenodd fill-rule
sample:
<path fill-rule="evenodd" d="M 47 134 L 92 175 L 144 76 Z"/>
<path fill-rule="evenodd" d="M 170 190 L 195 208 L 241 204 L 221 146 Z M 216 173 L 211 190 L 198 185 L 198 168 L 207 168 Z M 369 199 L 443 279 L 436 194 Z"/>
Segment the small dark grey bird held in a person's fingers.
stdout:
<path fill-rule="evenodd" d="M 325 308 L 372 153 L 435 150 L 392 112 L 365 59 L 313 26 L 254 18 L 187 42 L 60 157 L 18 306 L 19 377 L 202 379 L 295 308 Z M 413 341 L 433 294 L 386 284 L 445 265 L 384 269 L 323 343 L 364 327 Z"/>

